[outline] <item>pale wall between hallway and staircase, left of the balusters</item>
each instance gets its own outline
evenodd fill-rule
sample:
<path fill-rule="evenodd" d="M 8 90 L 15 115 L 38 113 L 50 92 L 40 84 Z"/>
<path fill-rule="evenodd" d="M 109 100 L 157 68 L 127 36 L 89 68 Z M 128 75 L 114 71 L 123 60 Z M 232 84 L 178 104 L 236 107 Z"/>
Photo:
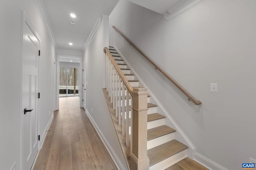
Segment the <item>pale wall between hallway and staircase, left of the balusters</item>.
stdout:
<path fill-rule="evenodd" d="M 119 161 L 127 169 L 124 155 L 122 153 L 118 138 L 108 111 L 102 88 L 105 87 L 105 53 L 103 48 L 108 46 L 108 17 L 103 16 L 103 21 L 95 33 L 95 36 L 84 52 L 86 63 L 86 112 L 92 117 L 101 131 L 110 151 L 114 151 L 114 161 Z M 112 150 L 113 149 L 113 150 Z M 111 154 L 111 153 L 110 153 Z M 119 160 L 118 160 L 119 159 Z M 122 169 L 122 168 L 121 168 Z"/>

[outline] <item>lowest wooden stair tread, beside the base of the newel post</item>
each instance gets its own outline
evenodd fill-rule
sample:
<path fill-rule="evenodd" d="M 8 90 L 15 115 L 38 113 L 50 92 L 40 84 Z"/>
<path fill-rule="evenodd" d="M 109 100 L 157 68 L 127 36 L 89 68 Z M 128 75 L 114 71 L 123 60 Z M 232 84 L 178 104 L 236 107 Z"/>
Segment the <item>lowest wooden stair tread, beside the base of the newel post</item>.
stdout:
<path fill-rule="evenodd" d="M 174 154 L 177 154 L 185 149 L 188 149 L 188 146 L 176 141 L 175 139 L 169 142 L 166 142 L 162 145 L 148 149 L 148 158 L 149 166 L 157 164 Z"/>

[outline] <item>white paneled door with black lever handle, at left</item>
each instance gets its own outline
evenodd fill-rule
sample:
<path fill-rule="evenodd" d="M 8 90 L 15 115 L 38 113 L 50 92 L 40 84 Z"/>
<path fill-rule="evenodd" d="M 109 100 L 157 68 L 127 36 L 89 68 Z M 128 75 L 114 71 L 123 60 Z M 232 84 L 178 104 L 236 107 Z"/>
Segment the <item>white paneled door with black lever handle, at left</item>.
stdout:
<path fill-rule="evenodd" d="M 30 170 L 38 145 L 38 51 L 39 40 L 27 23 L 23 39 L 23 168 Z"/>

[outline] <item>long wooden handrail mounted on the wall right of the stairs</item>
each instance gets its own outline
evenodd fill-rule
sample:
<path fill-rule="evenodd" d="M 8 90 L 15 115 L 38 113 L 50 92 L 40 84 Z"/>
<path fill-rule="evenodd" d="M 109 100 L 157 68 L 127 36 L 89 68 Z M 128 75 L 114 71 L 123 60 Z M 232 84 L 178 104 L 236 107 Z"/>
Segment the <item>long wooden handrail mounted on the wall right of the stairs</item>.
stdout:
<path fill-rule="evenodd" d="M 136 45 L 134 45 L 134 43 L 132 43 L 132 41 L 130 41 L 123 33 L 121 33 L 115 26 L 112 26 L 120 35 L 122 35 L 122 37 L 124 37 L 124 39 L 126 39 L 126 41 L 128 41 L 128 43 L 130 45 L 132 45 L 143 57 L 145 57 L 145 59 L 147 61 L 149 61 L 149 63 L 151 63 L 156 70 L 158 70 L 161 74 L 163 74 L 170 82 L 172 82 L 172 84 L 174 84 L 174 86 L 176 86 L 176 88 L 178 88 L 187 98 L 189 101 L 193 102 L 195 105 L 200 105 L 202 102 L 200 102 L 199 100 L 196 100 L 196 98 L 194 98 L 188 91 L 186 91 L 180 84 L 178 84 L 178 82 L 176 82 L 171 76 L 169 76 L 164 70 L 162 70 L 156 63 L 154 63 L 154 61 L 150 60 L 148 58 L 148 56 L 143 53 Z"/>

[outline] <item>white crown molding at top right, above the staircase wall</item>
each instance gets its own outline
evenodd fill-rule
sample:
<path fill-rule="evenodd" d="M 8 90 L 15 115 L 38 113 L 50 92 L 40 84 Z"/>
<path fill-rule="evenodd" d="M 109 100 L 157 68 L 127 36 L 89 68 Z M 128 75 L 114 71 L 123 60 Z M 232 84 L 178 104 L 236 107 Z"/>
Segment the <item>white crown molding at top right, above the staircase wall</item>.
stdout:
<path fill-rule="evenodd" d="M 169 8 L 167 10 L 167 13 L 164 14 L 164 19 L 166 21 L 170 21 L 180 14 L 183 14 L 184 12 L 190 10 L 194 6 L 200 4 L 204 0 L 187 0 L 187 1 L 180 1 L 180 3 L 176 4 L 175 7 Z"/>

